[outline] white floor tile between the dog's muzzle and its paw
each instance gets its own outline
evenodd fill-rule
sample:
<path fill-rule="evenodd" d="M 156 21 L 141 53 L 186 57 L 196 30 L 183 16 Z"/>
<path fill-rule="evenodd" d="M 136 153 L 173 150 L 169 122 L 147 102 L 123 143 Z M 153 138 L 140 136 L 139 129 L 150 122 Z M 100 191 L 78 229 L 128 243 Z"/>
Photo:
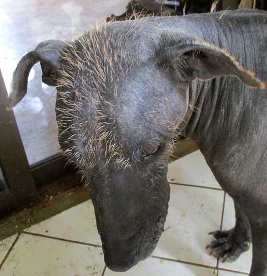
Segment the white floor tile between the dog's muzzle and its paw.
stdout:
<path fill-rule="evenodd" d="M 223 191 L 171 184 L 165 232 L 154 256 L 216 266 L 205 247 L 220 228 Z"/>

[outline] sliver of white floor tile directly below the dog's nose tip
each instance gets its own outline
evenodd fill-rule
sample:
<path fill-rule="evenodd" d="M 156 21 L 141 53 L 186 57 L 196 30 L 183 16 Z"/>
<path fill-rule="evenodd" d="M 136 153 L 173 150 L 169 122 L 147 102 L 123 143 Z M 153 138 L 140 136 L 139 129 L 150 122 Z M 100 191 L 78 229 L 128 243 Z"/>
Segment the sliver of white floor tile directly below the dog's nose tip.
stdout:
<path fill-rule="evenodd" d="M 116 273 L 108 268 L 106 269 L 104 276 L 116 276 L 122 275 Z M 188 265 L 184 263 L 159 260 L 155 258 L 149 258 L 133 268 L 131 268 L 123 276 L 216 276 L 217 271 L 204 267 Z"/>

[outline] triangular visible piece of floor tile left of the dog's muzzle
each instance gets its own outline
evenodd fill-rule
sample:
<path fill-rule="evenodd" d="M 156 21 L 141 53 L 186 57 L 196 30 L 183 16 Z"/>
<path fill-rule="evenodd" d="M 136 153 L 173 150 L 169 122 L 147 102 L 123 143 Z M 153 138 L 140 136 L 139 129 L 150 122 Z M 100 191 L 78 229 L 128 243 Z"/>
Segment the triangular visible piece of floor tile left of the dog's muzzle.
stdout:
<path fill-rule="evenodd" d="M 76 242 L 101 245 L 91 200 L 36 224 L 25 231 Z"/>

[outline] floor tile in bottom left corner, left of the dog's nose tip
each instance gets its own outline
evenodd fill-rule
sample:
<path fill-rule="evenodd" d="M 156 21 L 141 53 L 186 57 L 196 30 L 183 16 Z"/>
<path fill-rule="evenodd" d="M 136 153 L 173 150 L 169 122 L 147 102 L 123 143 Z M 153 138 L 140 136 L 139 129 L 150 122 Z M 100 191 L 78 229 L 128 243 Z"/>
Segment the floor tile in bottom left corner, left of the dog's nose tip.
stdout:
<path fill-rule="evenodd" d="M 100 276 L 98 247 L 22 234 L 1 269 L 1 276 Z"/>

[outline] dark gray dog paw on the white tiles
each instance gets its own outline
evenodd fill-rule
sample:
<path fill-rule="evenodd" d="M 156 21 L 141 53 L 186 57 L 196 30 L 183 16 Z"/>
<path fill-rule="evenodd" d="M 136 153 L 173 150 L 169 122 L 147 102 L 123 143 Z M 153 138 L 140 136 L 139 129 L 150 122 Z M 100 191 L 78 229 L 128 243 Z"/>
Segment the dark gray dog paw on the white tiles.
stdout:
<path fill-rule="evenodd" d="M 229 231 L 215 231 L 209 233 L 213 235 L 216 240 L 206 247 L 210 255 L 217 259 L 221 259 L 222 262 L 233 262 L 238 257 L 250 248 L 249 241 L 236 241 L 233 235 L 233 229 Z"/>

